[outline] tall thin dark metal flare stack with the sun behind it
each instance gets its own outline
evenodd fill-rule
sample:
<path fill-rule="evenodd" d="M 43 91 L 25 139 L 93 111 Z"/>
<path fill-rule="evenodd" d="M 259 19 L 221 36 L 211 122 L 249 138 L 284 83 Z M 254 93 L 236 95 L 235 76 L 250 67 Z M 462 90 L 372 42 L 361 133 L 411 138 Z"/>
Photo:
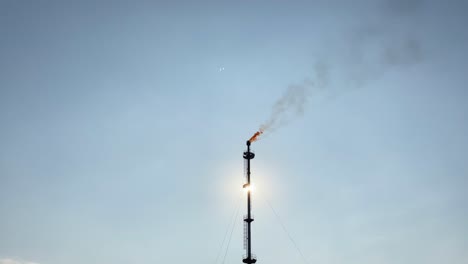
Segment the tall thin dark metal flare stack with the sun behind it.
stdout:
<path fill-rule="evenodd" d="M 242 259 L 244 263 L 255 263 L 257 258 L 252 254 L 252 232 L 251 224 L 253 222 L 253 216 L 251 214 L 252 204 L 251 204 L 251 195 L 252 188 L 250 185 L 250 160 L 255 157 L 255 154 L 250 152 L 250 140 L 247 141 L 247 151 L 244 152 L 244 159 L 246 162 L 246 178 L 247 182 L 243 185 L 244 189 L 247 190 L 247 215 L 244 216 L 244 249 L 246 250 L 246 255 Z"/>

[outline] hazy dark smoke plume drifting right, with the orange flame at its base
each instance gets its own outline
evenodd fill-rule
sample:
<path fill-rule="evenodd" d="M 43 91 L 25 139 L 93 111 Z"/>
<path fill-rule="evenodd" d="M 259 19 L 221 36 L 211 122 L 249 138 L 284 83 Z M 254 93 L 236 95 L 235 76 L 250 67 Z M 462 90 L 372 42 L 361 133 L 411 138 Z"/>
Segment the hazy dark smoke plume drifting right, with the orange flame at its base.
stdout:
<path fill-rule="evenodd" d="M 422 61 L 424 54 L 420 42 L 411 34 L 395 32 L 398 31 L 378 25 L 348 31 L 347 37 L 337 41 L 345 46 L 337 46 L 333 63 L 331 60 L 316 63 L 312 78 L 290 85 L 273 104 L 270 117 L 260 126 L 252 141 L 303 115 L 312 95 L 335 98 L 379 79 L 390 69 Z M 333 68 L 330 67 L 332 64 Z"/>

